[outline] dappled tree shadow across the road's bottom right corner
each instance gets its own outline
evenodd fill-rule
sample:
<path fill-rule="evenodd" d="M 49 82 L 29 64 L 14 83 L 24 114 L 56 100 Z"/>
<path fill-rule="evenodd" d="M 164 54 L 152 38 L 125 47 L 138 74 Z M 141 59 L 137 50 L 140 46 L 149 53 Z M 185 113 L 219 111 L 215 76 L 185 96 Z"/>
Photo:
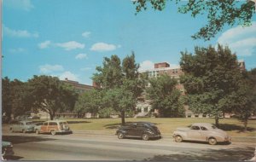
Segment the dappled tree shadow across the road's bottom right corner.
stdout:
<path fill-rule="evenodd" d="M 145 161 L 244 161 L 251 159 L 254 148 L 231 148 L 198 152 L 182 152 L 177 154 L 160 154 Z"/>

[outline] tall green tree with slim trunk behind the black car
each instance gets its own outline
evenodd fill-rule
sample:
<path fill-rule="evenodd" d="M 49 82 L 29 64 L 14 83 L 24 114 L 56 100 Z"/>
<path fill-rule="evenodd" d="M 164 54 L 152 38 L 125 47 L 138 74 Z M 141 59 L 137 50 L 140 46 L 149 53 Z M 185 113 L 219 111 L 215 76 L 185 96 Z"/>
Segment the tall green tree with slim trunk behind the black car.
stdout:
<path fill-rule="evenodd" d="M 117 55 L 104 58 L 103 67 L 96 67 L 98 73 L 93 76 L 94 82 L 104 90 L 105 107 L 119 112 L 122 124 L 125 124 L 125 112 L 134 110 L 137 96 L 143 92 L 144 81 L 138 78 L 138 65 L 135 55 L 128 55 L 122 62 Z"/>

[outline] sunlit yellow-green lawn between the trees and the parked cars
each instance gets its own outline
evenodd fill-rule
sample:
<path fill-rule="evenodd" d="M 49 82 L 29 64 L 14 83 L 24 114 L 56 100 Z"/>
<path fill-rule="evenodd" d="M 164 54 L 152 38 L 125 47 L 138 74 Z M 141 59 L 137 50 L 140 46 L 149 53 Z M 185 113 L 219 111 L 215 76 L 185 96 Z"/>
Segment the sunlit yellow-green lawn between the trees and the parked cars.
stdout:
<path fill-rule="evenodd" d="M 121 119 L 66 119 L 73 130 L 104 130 L 114 133 L 119 127 Z M 73 124 L 74 121 L 81 123 Z M 127 118 L 125 122 L 148 121 L 156 124 L 163 135 L 171 135 L 177 127 L 188 126 L 193 123 L 215 123 L 214 119 L 185 119 L 185 118 Z M 256 136 L 256 120 L 249 120 L 248 131 L 242 132 L 243 124 L 237 119 L 219 119 L 220 128 L 230 136 Z"/>

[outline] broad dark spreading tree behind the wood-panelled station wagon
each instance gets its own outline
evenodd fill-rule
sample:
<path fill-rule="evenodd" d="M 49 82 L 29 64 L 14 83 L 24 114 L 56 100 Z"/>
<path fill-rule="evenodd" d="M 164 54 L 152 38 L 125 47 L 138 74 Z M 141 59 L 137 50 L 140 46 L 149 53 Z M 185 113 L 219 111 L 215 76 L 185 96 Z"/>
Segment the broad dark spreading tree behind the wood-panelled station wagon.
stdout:
<path fill-rule="evenodd" d="M 29 79 L 27 90 L 27 104 L 49 113 L 50 119 L 55 118 L 55 113 L 72 111 L 78 95 L 71 85 L 45 75 Z"/>

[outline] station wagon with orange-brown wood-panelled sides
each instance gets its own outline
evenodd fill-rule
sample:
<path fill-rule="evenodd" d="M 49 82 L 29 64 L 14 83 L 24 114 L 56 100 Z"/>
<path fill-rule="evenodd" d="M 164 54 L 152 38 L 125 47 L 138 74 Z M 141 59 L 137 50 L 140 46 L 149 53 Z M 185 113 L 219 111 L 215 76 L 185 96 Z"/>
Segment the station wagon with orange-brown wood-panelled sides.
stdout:
<path fill-rule="evenodd" d="M 46 121 L 42 125 L 36 126 L 35 131 L 37 134 L 50 133 L 51 135 L 55 135 L 56 133 L 72 133 L 72 130 L 67 125 L 67 121 L 64 120 Z"/>

